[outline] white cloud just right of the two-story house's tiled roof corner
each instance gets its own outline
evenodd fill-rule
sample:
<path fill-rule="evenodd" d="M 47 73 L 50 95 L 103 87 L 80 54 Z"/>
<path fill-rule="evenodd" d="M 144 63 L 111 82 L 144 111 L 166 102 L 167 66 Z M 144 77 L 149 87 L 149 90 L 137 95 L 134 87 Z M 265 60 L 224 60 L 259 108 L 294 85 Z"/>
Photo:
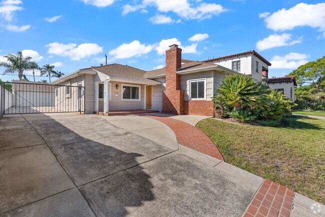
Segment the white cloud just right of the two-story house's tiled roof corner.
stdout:
<path fill-rule="evenodd" d="M 290 52 L 284 56 L 274 55 L 271 58 L 272 65 L 270 68 L 285 68 L 285 69 L 295 69 L 300 65 L 307 63 L 309 55 L 304 53 Z"/>

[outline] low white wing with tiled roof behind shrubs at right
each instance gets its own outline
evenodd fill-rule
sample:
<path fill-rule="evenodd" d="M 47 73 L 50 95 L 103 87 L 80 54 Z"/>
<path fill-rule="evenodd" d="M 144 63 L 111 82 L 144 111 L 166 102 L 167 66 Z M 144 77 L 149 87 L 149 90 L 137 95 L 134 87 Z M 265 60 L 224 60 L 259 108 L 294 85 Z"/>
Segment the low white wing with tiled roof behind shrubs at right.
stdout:
<path fill-rule="evenodd" d="M 287 77 L 272 77 L 266 79 L 270 88 L 282 92 L 286 97 L 295 101 L 294 86 L 297 85 L 294 76 Z"/>

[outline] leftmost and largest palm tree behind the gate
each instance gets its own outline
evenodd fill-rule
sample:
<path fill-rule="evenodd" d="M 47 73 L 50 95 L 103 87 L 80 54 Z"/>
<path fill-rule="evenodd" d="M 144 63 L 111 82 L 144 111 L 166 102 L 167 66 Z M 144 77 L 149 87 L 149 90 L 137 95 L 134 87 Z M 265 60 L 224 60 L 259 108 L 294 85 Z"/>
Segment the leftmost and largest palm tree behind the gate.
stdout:
<path fill-rule="evenodd" d="M 3 56 L 6 62 L 0 62 L 0 66 L 5 67 L 3 74 L 18 72 L 19 80 L 22 79 L 24 70 L 30 70 L 30 56 L 23 56 L 21 51 L 17 54 L 7 54 Z"/>

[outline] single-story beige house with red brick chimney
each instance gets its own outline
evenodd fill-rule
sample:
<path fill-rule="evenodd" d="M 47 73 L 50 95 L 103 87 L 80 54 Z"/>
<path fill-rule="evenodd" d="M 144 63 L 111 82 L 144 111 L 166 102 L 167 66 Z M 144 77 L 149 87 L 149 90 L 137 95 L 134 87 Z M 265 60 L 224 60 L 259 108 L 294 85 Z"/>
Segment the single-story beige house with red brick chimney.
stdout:
<path fill-rule="evenodd" d="M 153 109 L 213 116 L 211 97 L 222 78 L 234 73 L 239 72 L 214 63 L 182 64 L 181 49 L 173 44 L 161 69 L 144 71 L 114 63 L 82 68 L 51 84 L 84 86 L 85 113 Z"/>

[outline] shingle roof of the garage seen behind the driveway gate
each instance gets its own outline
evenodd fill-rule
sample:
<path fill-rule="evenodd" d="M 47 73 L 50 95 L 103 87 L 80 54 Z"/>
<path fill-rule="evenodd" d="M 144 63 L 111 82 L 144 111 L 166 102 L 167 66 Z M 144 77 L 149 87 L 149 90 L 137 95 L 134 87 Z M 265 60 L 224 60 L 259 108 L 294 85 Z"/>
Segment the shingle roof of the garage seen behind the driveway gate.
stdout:
<path fill-rule="evenodd" d="M 45 84 L 45 85 L 44 85 Z M 33 82 L 24 80 L 12 80 L 12 88 L 14 91 L 46 91 L 54 92 L 54 85 L 46 85 L 45 82 Z"/>

